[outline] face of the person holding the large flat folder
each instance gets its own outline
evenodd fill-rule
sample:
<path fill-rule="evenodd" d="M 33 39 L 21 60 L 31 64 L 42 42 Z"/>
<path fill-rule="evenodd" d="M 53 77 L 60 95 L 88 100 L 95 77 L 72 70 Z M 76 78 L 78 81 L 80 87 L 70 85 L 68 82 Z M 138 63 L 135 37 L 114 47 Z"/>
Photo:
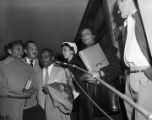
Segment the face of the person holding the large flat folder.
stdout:
<path fill-rule="evenodd" d="M 82 38 L 82 42 L 86 45 L 86 46 L 90 46 L 94 44 L 94 38 L 95 36 L 92 34 L 90 29 L 83 29 L 81 32 L 81 38 Z"/>

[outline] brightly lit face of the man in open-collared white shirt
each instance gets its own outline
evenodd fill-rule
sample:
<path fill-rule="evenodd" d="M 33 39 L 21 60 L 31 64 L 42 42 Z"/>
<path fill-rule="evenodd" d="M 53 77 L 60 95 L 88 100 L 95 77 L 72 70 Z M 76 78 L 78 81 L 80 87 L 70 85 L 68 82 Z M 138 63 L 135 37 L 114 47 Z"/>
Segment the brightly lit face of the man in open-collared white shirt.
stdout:
<path fill-rule="evenodd" d="M 118 0 L 117 1 L 117 5 L 119 8 L 119 13 L 121 14 L 122 18 L 127 18 L 128 14 L 129 14 L 129 4 L 128 4 L 128 0 Z"/>

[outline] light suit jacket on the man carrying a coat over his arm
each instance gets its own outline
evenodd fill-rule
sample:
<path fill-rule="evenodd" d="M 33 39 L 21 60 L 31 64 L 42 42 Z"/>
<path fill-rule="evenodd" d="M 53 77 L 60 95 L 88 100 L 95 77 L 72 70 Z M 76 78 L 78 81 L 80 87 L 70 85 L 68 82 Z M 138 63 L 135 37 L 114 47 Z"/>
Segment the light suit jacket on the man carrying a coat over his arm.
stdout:
<path fill-rule="evenodd" d="M 69 74 L 64 68 L 54 65 L 50 74 L 50 79 L 48 80 L 48 85 L 51 83 L 69 83 Z M 34 83 L 35 82 L 35 83 Z M 43 70 L 39 71 L 35 75 L 33 84 L 37 86 L 38 89 L 38 103 L 46 112 L 46 119 L 52 120 L 70 120 L 70 116 L 63 114 L 58 107 L 54 107 L 53 101 L 49 95 L 43 92 Z"/>

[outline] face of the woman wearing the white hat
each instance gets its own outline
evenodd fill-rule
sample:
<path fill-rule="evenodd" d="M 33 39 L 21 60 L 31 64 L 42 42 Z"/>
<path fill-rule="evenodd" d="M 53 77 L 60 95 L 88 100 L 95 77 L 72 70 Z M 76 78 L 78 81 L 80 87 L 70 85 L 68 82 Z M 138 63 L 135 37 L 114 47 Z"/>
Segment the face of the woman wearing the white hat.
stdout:
<path fill-rule="evenodd" d="M 69 60 L 73 56 L 73 51 L 68 46 L 62 47 L 62 54 L 64 59 Z"/>

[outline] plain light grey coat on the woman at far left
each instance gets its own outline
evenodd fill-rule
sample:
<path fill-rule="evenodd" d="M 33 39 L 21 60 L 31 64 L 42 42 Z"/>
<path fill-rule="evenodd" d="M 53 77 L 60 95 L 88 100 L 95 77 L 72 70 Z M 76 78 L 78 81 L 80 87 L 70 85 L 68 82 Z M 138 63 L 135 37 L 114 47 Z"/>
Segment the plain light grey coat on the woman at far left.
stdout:
<path fill-rule="evenodd" d="M 22 93 L 26 82 L 32 78 L 33 69 L 21 60 L 8 57 L 0 62 L 0 90 L 7 94 L 8 90 Z M 5 84 L 3 83 L 5 82 Z M 11 120 L 22 120 L 25 99 L 0 97 L 2 116 Z"/>

